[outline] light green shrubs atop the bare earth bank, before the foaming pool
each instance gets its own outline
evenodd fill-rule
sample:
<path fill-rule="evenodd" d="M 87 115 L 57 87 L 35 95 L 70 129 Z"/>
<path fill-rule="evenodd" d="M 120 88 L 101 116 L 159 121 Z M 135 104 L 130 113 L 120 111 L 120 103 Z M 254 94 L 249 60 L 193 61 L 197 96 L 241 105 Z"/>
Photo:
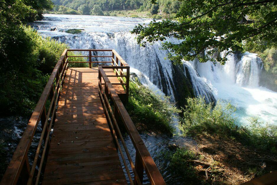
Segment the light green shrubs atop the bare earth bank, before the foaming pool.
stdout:
<path fill-rule="evenodd" d="M 221 137 L 235 138 L 237 141 L 259 149 L 276 153 L 277 126 L 249 119 L 249 126 L 239 126 L 234 112 L 236 108 L 221 101 L 216 106 L 205 103 L 204 98 L 188 98 L 180 121 L 183 135 L 197 136 L 203 133 L 217 134 Z"/>

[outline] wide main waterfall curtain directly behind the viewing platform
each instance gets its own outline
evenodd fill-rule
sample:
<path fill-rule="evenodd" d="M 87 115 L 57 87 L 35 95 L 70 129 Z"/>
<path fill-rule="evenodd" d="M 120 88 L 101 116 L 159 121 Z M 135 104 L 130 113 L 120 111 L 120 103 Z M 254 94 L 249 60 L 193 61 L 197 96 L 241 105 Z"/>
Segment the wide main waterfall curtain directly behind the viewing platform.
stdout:
<path fill-rule="evenodd" d="M 71 48 L 104 48 L 115 49 L 118 54 L 130 65 L 132 68 L 137 69 L 139 72 L 147 76 L 149 81 L 156 85 L 162 92 L 171 96 L 171 100 L 175 101 L 177 95 L 173 81 L 172 62 L 165 59 L 168 51 L 161 49 L 161 42 L 154 44 L 147 44 L 146 47 L 140 47 L 137 44 L 135 35 L 130 32 L 89 32 L 78 35 L 63 34 L 61 36 L 53 36 L 60 42 L 66 43 Z M 99 55 L 105 55 L 98 52 Z M 106 59 L 98 58 L 98 61 Z M 191 80 L 195 96 L 205 96 L 207 102 L 216 101 L 211 84 L 207 84 L 205 78 L 201 78 L 192 65 L 184 63 L 184 68 L 189 71 L 189 79 Z M 186 76 L 185 69 L 183 76 Z M 143 79 L 142 79 L 143 80 Z M 184 97 L 187 98 L 187 97 Z"/>

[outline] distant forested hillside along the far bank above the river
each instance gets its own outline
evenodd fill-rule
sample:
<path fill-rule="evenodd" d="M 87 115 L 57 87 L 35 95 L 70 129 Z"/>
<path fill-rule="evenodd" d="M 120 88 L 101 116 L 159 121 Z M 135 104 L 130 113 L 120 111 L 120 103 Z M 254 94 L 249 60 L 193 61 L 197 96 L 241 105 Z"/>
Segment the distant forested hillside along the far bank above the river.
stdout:
<path fill-rule="evenodd" d="M 181 1 L 159 0 L 156 4 L 148 0 L 53 0 L 54 7 L 48 13 L 82 14 L 107 16 L 148 16 L 162 18 L 168 14 L 175 14 Z M 137 15 L 136 15 L 137 14 Z M 158 15 L 157 15 L 158 14 Z"/>

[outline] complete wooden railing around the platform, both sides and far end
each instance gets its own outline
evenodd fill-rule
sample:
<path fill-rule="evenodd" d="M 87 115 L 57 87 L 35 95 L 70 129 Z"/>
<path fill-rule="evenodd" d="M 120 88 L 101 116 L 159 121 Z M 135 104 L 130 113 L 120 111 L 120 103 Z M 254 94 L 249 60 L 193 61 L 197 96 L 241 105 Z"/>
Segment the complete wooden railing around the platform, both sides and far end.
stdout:
<path fill-rule="evenodd" d="M 78 51 L 83 53 L 89 52 L 89 54 L 88 56 L 68 56 L 68 51 Z M 111 52 L 111 55 L 95 56 L 95 55 L 92 55 L 92 52 Z M 89 67 L 91 67 L 92 63 L 103 63 L 103 62 L 93 62 L 92 61 L 93 57 L 111 58 L 111 61 L 109 62 L 107 61 L 106 63 L 111 63 L 112 66 L 99 67 L 99 70 L 101 71 L 101 74 L 104 74 L 103 79 L 105 84 L 105 90 L 106 91 L 108 90 L 111 93 L 110 96 L 115 102 L 115 109 L 117 111 L 114 114 L 114 116 L 115 118 L 121 117 L 131 137 L 131 140 L 136 148 L 136 163 L 135 163 L 136 166 L 134 166 L 133 162 L 130 161 L 130 164 L 133 168 L 133 171 L 136 177 L 135 183 L 140 184 L 140 182 L 142 182 L 143 169 L 145 169 L 146 174 L 149 177 L 149 180 L 153 184 L 164 184 L 164 180 L 162 179 L 162 176 L 159 173 L 157 166 L 155 165 L 149 152 L 144 146 L 144 143 L 141 140 L 136 128 L 134 127 L 130 116 L 128 115 L 127 111 L 125 110 L 122 102 L 120 101 L 118 95 L 115 93 L 115 90 L 113 88 L 113 85 L 125 85 L 126 100 L 128 100 L 130 67 L 119 56 L 119 54 L 112 49 L 65 49 L 64 50 L 56 66 L 54 67 L 53 72 L 49 77 L 49 80 L 43 90 L 43 93 L 40 96 L 40 99 L 38 101 L 38 104 L 35 107 L 34 112 L 31 115 L 27 128 L 22 135 L 22 138 L 14 152 L 14 155 L 12 156 L 12 159 L 9 163 L 8 168 L 6 169 L 6 172 L 0 184 L 1 185 L 2 184 L 3 185 L 38 184 L 41 181 L 42 178 L 40 175 L 43 174 L 43 171 L 45 168 L 45 161 L 47 158 L 48 148 L 50 145 L 51 128 L 53 127 L 55 116 L 56 116 L 56 107 L 58 105 L 60 92 L 65 78 L 66 70 L 69 67 L 69 63 L 71 63 L 69 62 L 69 57 L 88 57 L 89 60 L 87 62 L 89 63 Z M 73 62 L 78 62 L 78 61 L 73 61 Z M 111 84 L 107 78 L 108 76 L 105 75 L 103 68 L 114 69 L 115 75 L 109 75 L 109 76 L 118 77 L 120 82 L 116 84 Z M 126 74 L 123 71 L 124 69 L 126 69 Z M 124 77 L 126 78 L 125 82 L 123 80 Z M 100 88 L 102 89 L 102 86 Z M 103 100 L 102 93 L 100 94 Z M 107 95 L 105 94 L 104 97 L 106 100 Z M 105 108 L 105 110 L 107 110 L 107 107 Z M 115 118 L 113 118 L 113 120 Z M 30 146 L 32 144 L 32 140 L 37 131 L 37 127 L 39 123 L 41 123 L 41 128 L 42 128 L 42 131 L 40 134 L 40 140 L 38 142 L 37 150 L 36 150 L 36 153 L 34 154 L 34 157 L 29 158 Z M 115 124 L 115 126 L 116 125 L 117 124 Z M 116 126 L 116 130 L 119 130 L 118 126 Z M 112 129 L 112 132 L 115 132 L 115 129 Z M 120 139 L 122 139 L 121 134 L 120 136 L 121 136 Z M 124 148 L 126 148 L 125 143 L 123 145 L 124 145 Z M 30 165 L 30 162 L 32 165 Z"/>

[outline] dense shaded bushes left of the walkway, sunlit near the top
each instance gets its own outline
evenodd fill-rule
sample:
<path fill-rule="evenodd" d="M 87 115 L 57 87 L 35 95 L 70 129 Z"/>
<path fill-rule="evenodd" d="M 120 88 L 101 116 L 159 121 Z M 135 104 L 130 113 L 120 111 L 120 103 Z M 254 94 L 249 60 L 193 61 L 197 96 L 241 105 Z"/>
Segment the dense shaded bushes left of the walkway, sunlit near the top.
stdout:
<path fill-rule="evenodd" d="M 65 44 L 43 39 L 31 27 L 14 32 L 0 67 L 0 114 L 31 113 Z M 15 45 L 13 44 L 15 43 Z M 3 49 L 3 48 L 2 48 Z"/>

